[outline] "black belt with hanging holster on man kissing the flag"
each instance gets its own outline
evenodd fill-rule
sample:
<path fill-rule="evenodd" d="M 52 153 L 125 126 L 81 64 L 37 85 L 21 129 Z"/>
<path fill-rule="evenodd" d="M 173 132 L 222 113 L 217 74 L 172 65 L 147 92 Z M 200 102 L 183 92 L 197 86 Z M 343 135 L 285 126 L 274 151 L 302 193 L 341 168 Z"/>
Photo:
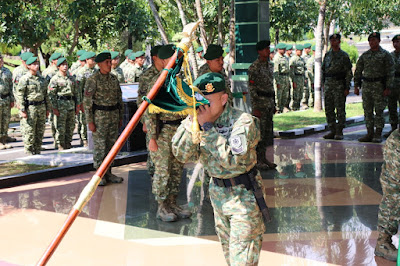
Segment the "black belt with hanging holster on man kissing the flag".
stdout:
<path fill-rule="evenodd" d="M 271 220 L 271 217 L 269 215 L 268 206 L 265 203 L 261 187 L 258 185 L 258 182 L 255 179 L 256 175 L 257 167 L 253 167 L 253 169 L 251 169 L 249 172 L 236 177 L 228 179 L 213 177 L 213 182 L 216 186 L 227 188 L 243 184 L 247 190 L 251 190 L 253 192 L 253 195 L 256 198 L 257 205 L 260 208 L 263 217 L 267 222 L 269 222 Z"/>

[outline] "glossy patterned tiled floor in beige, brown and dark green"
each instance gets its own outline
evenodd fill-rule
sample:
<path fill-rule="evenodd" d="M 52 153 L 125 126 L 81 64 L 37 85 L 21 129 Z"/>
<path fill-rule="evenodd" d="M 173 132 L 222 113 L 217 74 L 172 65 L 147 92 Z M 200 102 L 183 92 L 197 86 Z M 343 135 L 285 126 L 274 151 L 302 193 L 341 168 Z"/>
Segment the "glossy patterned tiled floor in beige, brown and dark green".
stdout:
<path fill-rule="evenodd" d="M 364 132 L 275 140 L 268 157 L 277 171 L 262 172 L 273 220 L 260 265 L 395 265 L 373 252 L 382 144 L 358 143 Z M 97 189 L 48 265 L 225 265 L 206 186 L 190 183 L 187 193 L 193 165 L 186 169 L 179 202 L 191 219 L 156 219 L 145 163 L 114 168 L 124 183 Z M 34 265 L 92 175 L 0 190 L 0 265 Z"/>

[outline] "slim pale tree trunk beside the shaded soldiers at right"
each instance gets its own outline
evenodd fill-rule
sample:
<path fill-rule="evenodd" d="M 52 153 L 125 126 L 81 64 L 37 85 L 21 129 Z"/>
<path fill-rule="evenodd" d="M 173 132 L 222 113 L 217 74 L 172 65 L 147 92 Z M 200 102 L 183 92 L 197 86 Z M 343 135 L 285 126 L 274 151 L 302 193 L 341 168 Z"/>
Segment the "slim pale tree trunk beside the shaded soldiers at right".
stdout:
<path fill-rule="evenodd" d="M 321 67 L 322 67 L 322 34 L 324 31 L 324 20 L 326 11 L 326 0 L 319 3 L 318 24 L 315 32 L 315 76 L 314 76 L 314 111 L 322 111 L 321 93 Z"/>

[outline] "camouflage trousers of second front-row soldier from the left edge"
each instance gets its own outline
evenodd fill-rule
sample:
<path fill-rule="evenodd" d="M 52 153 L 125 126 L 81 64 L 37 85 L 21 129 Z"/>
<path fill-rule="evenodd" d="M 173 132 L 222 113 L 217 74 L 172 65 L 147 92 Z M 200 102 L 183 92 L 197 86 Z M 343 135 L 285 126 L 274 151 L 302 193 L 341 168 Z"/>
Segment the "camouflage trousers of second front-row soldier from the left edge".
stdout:
<path fill-rule="evenodd" d="M 27 116 L 21 119 L 25 151 L 40 154 L 46 124 L 46 106 L 30 105 Z"/>

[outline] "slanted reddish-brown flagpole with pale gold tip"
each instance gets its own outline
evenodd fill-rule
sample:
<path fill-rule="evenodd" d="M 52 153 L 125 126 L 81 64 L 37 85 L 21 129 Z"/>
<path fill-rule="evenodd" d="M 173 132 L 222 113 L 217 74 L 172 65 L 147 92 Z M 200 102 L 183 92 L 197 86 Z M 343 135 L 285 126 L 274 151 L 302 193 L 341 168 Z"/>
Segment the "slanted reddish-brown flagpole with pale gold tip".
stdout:
<path fill-rule="evenodd" d="M 193 36 L 194 32 L 197 29 L 197 26 L 199 25 L 199 22 L 194 22 L 187 24 L 183 28 L 183 36 L 184 38 L 181 40 L 181 42 L 177 45 L 178 48 L 181 48 L 184 52 L 187 52 L 192 44 L 193 41 Z M 173 69 L 175 64 L 176 64 L 176 59 L 179 59 L 183 56 L 183 53 L 181 50 L 177 50 L 177 52 L 170 58 L 167 66 L 165 69 L 161 72 L 160 77 L 157 79 L 156 83 L 153 85 L 152 89 L 150 92 L 147 94 L 147 98 L 150 100 L 154 100 L 156 97 L 157 93 L 159 92 L 161 86 L 164 84 L 167 75 L 168 75 L 168 70 Z M 142 104 L 139 106 L 138 110 L 135 112 L 131 120 L 129 121 L 128 125 L 125 127 L 124 131 L 122 131 L 121 135 L 117 139 L 117 141 L 114 143 L 113 147 L 111 148 L 110 152 L 100 165 L 100 167 L 97 169 L 96 173 L 92 177 L 92 179 L 89 181 L 89 183 L 86 185 L 86 187 L 83 189 L 81 192 L 81 195 L 79 196 L 78 201 L 72 208 L 72 210 L 69 212 L 67 219 L 65 220 L 63 226 L 61 227 L 60 231 L 57 233 L 53 241 L 50 243 L 49 247 L 46 249 L 45 253 L 43 256 L 40 258 L 38 261 L 37 265 L 46 265 L 46 263 L 49 261 L 50 257 L 53 255 L 54 251 L 58 247 L 58 245 L 61 243 L 62 239 L 68 232 L 69 228 L 71 227 L 72 223 L 75 221 L 76 217 L 79 215 L 79 213 L 82 211 L 83 207 L 86 205 L 86 203 L 91 199 L 93 196 L 94 192 L 96 191 L 97 186 L 99 185 L 101 179 L 103 178 L 104 174 L 107 172 L 108 168 L 111 166 L 112 162 L 114 161 L 115 157 L 117 156 L 118 152 L 121 150 L 122 146 L 128 139 L 128 137 L 132 134 L 133 130 L 137 126 L 137 124 L 140 121 L 140 118 L 142 117 L 143 113 L 146 111 L 147 107 L 149 106 L 149 103 L 147 101 L 143 101 Z"/>

